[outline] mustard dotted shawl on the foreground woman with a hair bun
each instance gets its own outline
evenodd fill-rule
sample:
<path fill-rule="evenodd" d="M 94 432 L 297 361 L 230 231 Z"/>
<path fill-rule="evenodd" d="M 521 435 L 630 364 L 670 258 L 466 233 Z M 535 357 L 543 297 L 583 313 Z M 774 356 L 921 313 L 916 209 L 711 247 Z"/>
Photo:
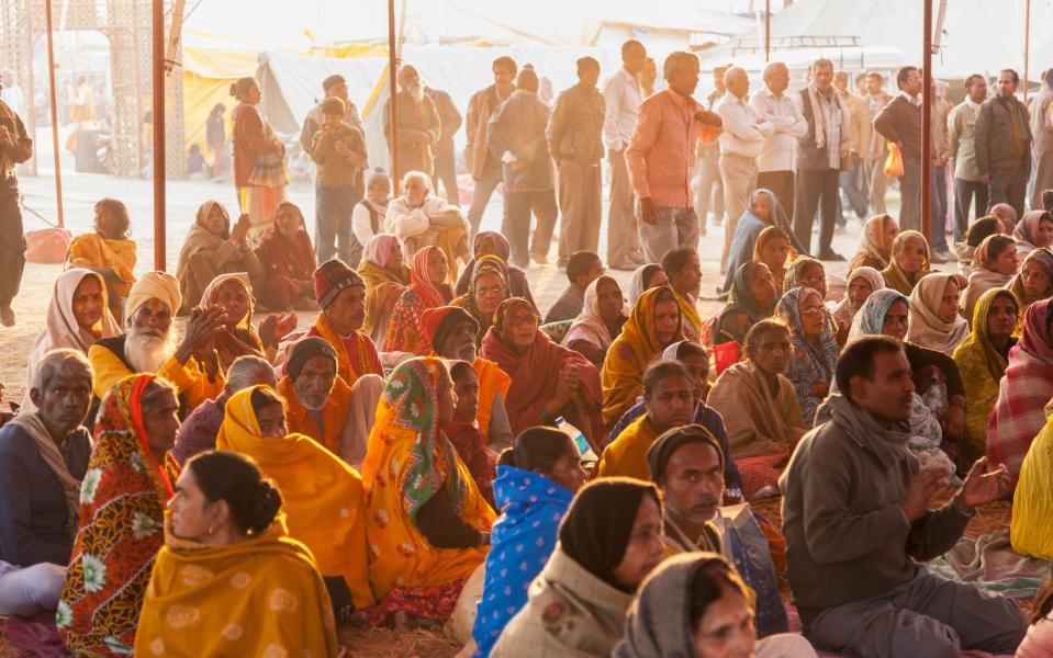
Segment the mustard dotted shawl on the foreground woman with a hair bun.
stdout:
<path fill-rule="evenodd" d="M 138 614 L 136 656 L 335 657 L 329 595 L 306 546 L 280 520 L 244 542 L 210 546 L 168 531 Z"/>

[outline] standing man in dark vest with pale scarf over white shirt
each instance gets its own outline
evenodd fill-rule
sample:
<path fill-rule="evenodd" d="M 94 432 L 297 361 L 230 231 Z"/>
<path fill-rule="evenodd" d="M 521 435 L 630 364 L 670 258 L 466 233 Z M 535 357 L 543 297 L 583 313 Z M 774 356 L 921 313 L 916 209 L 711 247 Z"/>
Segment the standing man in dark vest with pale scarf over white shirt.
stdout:
<path fill-rule="evenodd" d="M 797 139 L 799 154 L 797 193 L 794 207 L 794 234 L 797 241 L 817 253 L 819 260 L 842 261 L 844 257 L 830 248 L 833 222 L 838 209 L 838 182 L 841 163 L 848 158 L 849 110 L 833 89 L 833 63 L 816 59 L 811 65 L 811 82 L 800 90 L 800 113 L 808 122 L 808 132 Z M 811 224 L 820 213 L 819 249 L 813 251 Z"/>

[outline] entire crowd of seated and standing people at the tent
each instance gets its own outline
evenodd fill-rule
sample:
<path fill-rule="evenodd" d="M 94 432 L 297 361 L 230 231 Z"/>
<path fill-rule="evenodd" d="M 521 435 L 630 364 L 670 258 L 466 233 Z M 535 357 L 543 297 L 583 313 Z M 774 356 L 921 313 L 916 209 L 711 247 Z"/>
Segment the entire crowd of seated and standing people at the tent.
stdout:
<path fill-rule="evenodd" d="M 826 59 L 794 92 L 774 63 L 752 95 L 724 67 L 701 103 L 695 55 L 670 54 L 658 92 L 645 46 L 621 55 L 602 91 L 579 59 L 551 107 L 533 67 L 493 63 L 464 122 L 467 215 L 444 158 L 460 115 L 412 66 L 394 198 L 345 81 L 323 82 L 313 237 L 250 78 L 242 213 L 202 204 L 175 275 L 136 276 L 128 212 L 99 201 L 0 428 L 0 614 L 89 656 L 336 656 L 349 626 L 447 622 L 475 656 L 1053 653 L 1053 585 L 1029 622 L 926 564 L 1010 498 L 1012 547 L 1053 557 L 1053 75 L 1030 117 L 1013 71 L 990 99 L 971 76 L 922 155 L 915 67 L 895 97 Z M 5 326 L 31 154 L 0 102 Z M 598 253 L 604 156 L 626 290 Z M 953 257 L 945 195 L 918 230 L 920 168 L 949 161 Z M 705 317 L 718 181 L 727 298 Z M 480 231 L 499 183 L 503 230 Z M 840 206 L 877 213 L 844 279 L 824 265 L 844 260 Z M 525 270 L 557 220 L 568 286 L 542 309 Z M 781 526 L 748 506 L 755 533 L 726 522 L 777 496 Z"/>

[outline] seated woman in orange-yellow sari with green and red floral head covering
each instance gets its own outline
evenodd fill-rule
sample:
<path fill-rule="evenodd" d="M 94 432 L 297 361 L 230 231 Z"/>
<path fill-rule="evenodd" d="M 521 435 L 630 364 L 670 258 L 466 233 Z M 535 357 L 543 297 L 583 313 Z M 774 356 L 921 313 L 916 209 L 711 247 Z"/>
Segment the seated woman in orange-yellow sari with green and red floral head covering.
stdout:
<path fill-rule="evenodd" d="M 453 416 L 450 375 L 435 358 L 391 373 L 369 435 L 362 479 L 379 623 L 403 612 L 445 620 L 483 563 L 495 514 L 439 430 Z"/>

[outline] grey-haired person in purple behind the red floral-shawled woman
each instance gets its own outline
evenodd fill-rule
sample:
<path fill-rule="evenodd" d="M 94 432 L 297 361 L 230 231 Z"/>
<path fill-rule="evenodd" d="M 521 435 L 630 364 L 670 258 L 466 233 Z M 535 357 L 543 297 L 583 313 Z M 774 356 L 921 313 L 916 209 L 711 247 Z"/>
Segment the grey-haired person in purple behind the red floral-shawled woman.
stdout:
<path fill-rule="evenodd" d="M 179 428 L 176 444 L 171 455 L 180 465 L 190 457 L 215 447 L 215 436 L 223 424 L 223 412 L 226 401 L 238 390 L 257 385 L 267 385 L 273 388 L 276 384 L 275 366 L 267 360 L 247 354 L 238 356 L 226 371 L 226 386 L 214 400 L 205 400 L 190 412 L 187 420 Z"/>

